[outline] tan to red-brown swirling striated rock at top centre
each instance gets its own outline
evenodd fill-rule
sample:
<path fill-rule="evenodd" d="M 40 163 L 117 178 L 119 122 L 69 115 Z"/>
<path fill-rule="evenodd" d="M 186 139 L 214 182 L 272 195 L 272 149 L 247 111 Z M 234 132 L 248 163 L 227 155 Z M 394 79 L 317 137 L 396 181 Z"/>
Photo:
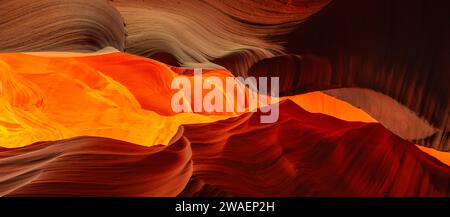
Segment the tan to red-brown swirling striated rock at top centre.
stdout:
<path fill-rule="evenodd" d="M 223 63 L 240 74 L 258 60 L 282 53 L 269 35 L 288 32 L 329 2 L 115 0 L 113 4 L 127 24 L 127 52 L 186 67 L 221 68 Z M 230 58 L 235 55 L 238 58 Z"/>

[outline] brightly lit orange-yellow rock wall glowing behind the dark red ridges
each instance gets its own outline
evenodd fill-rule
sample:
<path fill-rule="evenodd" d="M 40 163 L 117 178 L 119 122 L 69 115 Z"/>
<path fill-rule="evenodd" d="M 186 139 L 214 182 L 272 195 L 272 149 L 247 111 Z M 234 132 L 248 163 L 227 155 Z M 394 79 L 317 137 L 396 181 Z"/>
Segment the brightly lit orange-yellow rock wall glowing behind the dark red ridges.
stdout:
<path fill-rule="evenodd" d="M 77 136 L 143 146 L 168 144 L 183 124 L 211 123 L 238 115 L 175 113 L 171 98 L 176 90 L 170 85 L 179 75 L 194 85 L 189 70 L 119 52 L 0 54 L 0 146 L 21 147 Z M 205 70 L 202 79 L 210 76 L 224 81 L 232 75 L 226 70 Z M 231 94 L 222 93 L 226 102 Z M 376 122 L 361 109 L 322 92 L 280 100 L 288 98 L 309 112 Z M 441 161 L 448 164 L 448 159 Z"/>

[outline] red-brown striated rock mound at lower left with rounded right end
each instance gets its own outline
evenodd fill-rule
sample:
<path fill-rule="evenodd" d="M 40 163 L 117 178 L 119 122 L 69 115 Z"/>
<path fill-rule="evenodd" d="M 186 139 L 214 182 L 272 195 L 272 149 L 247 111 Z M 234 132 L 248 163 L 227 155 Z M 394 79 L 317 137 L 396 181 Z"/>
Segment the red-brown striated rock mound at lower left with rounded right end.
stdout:
<path fill-rule="evenodd" d="M 176 196 L 192 174 L 188 141 L 143 147 L 78 137 L 0 150 L 1 196 Z"/>

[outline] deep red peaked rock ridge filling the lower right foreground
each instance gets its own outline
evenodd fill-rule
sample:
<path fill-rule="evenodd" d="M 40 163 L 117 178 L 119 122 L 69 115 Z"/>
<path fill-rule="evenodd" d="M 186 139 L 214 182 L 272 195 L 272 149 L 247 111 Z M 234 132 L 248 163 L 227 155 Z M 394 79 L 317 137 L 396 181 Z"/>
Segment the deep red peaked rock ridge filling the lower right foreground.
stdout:
<path fill-rule="evenodd" d="M 182 195 L 449 196 L 450 167 L 380 124 L 306 112 L 188 125 L 194 172 Z M 264 138 L 264 139 L 261 139 Z"/>

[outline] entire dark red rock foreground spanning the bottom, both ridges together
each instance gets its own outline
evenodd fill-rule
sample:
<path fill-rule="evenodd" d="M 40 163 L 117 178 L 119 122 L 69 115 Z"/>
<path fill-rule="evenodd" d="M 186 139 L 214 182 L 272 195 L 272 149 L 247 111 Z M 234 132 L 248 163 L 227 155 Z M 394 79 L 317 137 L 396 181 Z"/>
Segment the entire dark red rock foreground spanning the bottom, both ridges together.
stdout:
<path fill-rule="evenodd" d="M 309 113 L 291 101 L 280 109 L 274 124 L 247 113 L 187 125 L 168 146 L 79 137 L 2 148 L 0 194 L 450 195 L 450 167 L 380 124 Z"/>

